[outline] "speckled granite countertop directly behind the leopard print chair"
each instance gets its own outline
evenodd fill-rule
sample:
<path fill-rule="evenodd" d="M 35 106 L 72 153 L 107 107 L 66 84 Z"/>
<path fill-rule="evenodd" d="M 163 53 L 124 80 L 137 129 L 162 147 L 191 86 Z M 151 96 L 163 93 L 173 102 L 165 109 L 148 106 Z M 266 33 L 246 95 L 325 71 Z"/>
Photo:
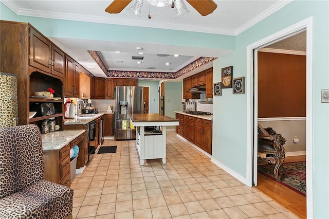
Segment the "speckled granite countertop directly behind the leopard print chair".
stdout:
<path fill-rule="evenodd" d="M 42 149 L 44 151 L 60 150 L 65 147 L 69 142 L 84 133 L 85 130 L 67 130 L 67 131 L 54 131 L 47 134 L 41 134 Z"/>

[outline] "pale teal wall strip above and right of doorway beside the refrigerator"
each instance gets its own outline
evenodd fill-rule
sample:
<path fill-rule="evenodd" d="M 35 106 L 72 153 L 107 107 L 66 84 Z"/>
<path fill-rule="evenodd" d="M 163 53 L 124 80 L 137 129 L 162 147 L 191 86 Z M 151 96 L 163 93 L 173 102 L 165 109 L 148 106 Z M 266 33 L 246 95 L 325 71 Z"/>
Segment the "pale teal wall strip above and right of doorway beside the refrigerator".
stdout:
<path fill-rule="evenodd" d="M 138 80 L 138 86 L 149 86 L 150 92 L 150 105 L 149 105 L 149 113 L 158 113 L 158 104 L 159 104 L 159 96 L 158 96 L 158 81 L 151 80 Z"/>

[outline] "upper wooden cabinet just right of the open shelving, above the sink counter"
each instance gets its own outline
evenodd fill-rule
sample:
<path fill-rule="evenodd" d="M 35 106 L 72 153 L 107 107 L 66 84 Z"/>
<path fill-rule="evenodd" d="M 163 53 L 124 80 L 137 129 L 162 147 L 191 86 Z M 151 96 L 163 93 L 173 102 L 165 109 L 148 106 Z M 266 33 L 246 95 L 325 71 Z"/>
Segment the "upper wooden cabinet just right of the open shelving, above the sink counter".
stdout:
<path fill-rule="evenodd" d="M 79 97 L 80 65 L 69 56 L 65 56 L 65 97 Z"/>

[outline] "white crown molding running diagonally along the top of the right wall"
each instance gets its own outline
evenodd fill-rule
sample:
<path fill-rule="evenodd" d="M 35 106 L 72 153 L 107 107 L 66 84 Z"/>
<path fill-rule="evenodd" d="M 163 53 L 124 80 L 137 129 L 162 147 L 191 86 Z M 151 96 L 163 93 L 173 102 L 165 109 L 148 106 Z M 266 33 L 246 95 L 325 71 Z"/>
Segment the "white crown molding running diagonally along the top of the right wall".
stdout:
<path fill-rule="evenodd" d="M 266 17 L 268 17 L 272 13 L 275 13 L 276 11 L 283 8 L 284 6 L 288 5 L 290 2 L 293 2 L 293 0 L 285 0 L 285 1 L 278 2 L 277 4 L 273 5 L 272 7 L 270 7 L 269 9 L 267 9 L 266 11 L 264 11 L 263 13 L 261 13 L 260 15 L 255 17 L 254 19 L 252 19 L 251 21 L 247 22 L 245 25 L 237 28 L 235 30 L 234 35 L 239 35 L 243 31 L 249 29 L 253 25 L 257 24 L 258 22 L 260 22 L 262 20 L 264 20 Z"/>

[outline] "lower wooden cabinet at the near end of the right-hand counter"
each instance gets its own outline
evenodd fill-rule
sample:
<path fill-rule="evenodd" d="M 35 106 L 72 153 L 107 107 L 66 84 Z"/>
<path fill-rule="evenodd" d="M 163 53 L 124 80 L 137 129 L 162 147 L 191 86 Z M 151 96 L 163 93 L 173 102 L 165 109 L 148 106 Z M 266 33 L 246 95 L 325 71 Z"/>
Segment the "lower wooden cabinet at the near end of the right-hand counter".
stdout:
<path fill-rule="evenodd" d="M 195 119 L 195 144 L 205 152 L 212 153 L 212 121 Z"/>

